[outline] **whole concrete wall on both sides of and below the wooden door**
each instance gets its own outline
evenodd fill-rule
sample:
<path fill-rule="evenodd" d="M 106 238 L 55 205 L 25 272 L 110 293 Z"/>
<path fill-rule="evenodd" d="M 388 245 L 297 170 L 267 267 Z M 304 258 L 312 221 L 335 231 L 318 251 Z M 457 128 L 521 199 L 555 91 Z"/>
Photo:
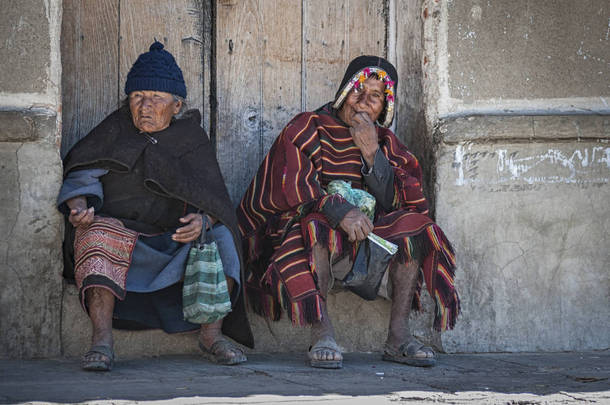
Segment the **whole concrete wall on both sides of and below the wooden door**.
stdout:
<path fill-rule="evenodd" d="M 389 5 L 390 56 L 408 70 L 399 108 L 414 116 L 397 131 L 426 167 L 436 219 L 458 253 L 463 300 L 441 341 L 424 294 L 415 333 L 448 351 L 608 348 L 606 2 Z M 61 13 L 59 0 L 24 0 L 0 16 L 0 357 L 76 356 L 89 339 L 75 289 L 62 284 L 54 209 Z M 421 32 L 404 29 L 404 13 Z M 341 346 L 381 348 L 387 301 L 339 292 L 329 304 Z M 309 343 L 307 329 L 286 321 L 253 317 L 253 329 L 258 350 Z M 117 332 L 116 345 L 119 356 L 197 352 L 194 335 L 160 331 Z"/>

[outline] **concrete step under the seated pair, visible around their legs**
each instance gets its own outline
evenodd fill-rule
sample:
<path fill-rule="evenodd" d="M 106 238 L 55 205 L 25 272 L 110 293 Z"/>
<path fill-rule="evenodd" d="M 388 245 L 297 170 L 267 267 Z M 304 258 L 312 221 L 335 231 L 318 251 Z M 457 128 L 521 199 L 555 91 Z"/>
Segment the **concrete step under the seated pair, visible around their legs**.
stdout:
<path fill-rule="evenodd" d="M 434 304 L 422 294 L 424 311 L 412 314 L 414 333 L 438 347 L 440 338 L 432 331 Z M 387 336 L 390 302 L 383 299 L 364 301 L 349 292 L 331 293 L 329 309 L 337 334 L 337 343 L 346 352 L 380 351 Z M 249 314 L 256 348 L 248 352 L 305 353 L 309 347 L 309 328 L 293 327 L 284 316 L 279 322 Z M 78 302 L 76 287 L 64 282 L 62 299 L 62 354 L 80 356 L 89 347 L 91 326 Z M 161 330 L 114 330 L 115 351 L 122 358 L 170 354 L 198 354 L 197 333 L 168 335 Z"/>

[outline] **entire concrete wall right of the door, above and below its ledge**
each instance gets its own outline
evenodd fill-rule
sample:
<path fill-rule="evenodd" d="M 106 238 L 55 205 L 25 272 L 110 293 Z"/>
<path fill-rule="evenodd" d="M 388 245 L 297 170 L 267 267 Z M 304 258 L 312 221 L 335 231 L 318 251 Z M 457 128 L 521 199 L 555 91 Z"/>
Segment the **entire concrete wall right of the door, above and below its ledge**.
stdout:
<path fill-rule="evenodd" d="M 610 347 L 610 7 L 424 3 L 436 219 L 458 254 L 448 351 Z"/>

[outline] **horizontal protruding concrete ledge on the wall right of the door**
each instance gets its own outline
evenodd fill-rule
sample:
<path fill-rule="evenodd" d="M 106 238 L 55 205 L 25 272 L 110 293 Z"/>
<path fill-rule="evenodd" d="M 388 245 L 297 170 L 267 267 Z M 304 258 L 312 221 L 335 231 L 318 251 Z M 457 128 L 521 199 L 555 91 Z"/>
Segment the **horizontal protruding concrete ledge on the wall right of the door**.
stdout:
<path fill-rule="evenodd" d="M 470 116 L 445 120 L 438 132 L 447 144 L 610 139 L 610 115 Z"/>

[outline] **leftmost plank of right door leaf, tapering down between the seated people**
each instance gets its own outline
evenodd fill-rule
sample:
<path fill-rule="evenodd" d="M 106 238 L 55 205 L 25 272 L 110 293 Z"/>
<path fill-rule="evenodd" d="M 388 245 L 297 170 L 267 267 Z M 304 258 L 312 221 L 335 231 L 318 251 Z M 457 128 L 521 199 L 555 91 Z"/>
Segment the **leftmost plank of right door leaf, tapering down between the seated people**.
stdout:
<path fill-rule="evenodd" d="M 262 158 L 262 15 L 256 0 L 218 0 L 216 10 L 216 149 L 237 204 Z"/>

